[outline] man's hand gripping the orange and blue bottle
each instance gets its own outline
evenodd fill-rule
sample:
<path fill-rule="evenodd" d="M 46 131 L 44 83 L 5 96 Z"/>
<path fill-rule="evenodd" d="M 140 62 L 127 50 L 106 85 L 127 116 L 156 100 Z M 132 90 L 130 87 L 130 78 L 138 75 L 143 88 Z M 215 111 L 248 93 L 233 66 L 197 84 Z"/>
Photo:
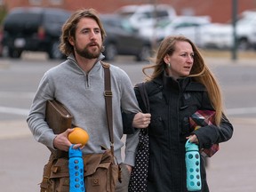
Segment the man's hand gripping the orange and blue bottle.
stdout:
<path fill-rule="evenodd" d="M 63 151 L 68 151 L 72 143 L 68 140 L 68 134 L 73 132 L 73 129 L 68 129 L 66 132 L 62 132 L 57 135 L 53 140 L 53 147 Z M 73 148 L 82 148 L 82 144 L 76 144 Z"/>

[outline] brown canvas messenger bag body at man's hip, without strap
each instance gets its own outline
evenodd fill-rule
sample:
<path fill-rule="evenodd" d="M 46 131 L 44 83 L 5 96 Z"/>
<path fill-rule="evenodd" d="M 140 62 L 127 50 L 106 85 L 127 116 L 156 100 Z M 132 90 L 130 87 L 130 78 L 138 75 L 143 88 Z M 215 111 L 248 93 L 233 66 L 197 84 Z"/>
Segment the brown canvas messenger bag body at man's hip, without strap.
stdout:
<path fill-rule="evenodd" d="M 110 149 L 104 153 L 86 155 L 84 159 L 84 184 L 87 192 L 114 192 L 120 176 Z M 47 176 L 47 177 L 46 177 Z M 44 166 L 41 192 L 69 192 L 68 158 L 52 158 Z"/>

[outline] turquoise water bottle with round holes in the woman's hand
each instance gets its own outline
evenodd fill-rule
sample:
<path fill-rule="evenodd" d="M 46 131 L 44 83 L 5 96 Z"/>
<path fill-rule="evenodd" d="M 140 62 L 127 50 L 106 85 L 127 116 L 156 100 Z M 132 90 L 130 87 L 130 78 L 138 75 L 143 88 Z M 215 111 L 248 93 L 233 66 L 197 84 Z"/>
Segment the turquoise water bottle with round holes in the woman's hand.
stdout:
<path fill-rule="evenodd" d="M 200 175 L 200 154 L 199 148 L 195 143 L 187 140 L 186 148 L 186 168 L 187 168 L 187 188 L 188 191 L 201 190 L 202 182 Z"/>

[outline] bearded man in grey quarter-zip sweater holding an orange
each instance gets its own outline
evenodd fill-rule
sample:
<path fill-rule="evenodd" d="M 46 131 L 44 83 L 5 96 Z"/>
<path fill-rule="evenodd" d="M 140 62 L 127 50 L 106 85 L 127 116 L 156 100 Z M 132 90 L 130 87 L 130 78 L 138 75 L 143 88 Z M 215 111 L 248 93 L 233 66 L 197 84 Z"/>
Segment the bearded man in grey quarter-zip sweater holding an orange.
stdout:
<path fill-rule="evenodd" d="M 63 25 L 60 51 L 68 59 L 44 74 L 28 115 L 28 126 L 35 139 L 48 148 L 68 151 L 71 143 L 68 134 L 72 129 L 56 135 L 44 121 L 47 100 L 59 100 L 74 116 L 73 124 L 84 128 L 90 136 L 82 148 L 84 154 L 102 153 L 100 145 L 109 146 L 108 124 L 105 108 L 104 58 L 102 42 L 106 33 L 93 9 L 80 10 L 70 16 Z M 117 182 L 116 191 L 128 191 L 128 182 L 138 144 L 138 132 L 127 135 L 124 161 L 122 111 L 134 114 L 132 126 L 145 128 L 150 122 L 149 114 L 140 113 L 131 80 L 121 68 L 110 65 L 113 92 L 113 128 L 115 156 L 121 164 L 123 182 Z M 127 121 L 129 123 L 130 121 Z M 131 123 L 131 122 L 130 122 Z M 74 148 L 81 148 L 76 144 Z"/>

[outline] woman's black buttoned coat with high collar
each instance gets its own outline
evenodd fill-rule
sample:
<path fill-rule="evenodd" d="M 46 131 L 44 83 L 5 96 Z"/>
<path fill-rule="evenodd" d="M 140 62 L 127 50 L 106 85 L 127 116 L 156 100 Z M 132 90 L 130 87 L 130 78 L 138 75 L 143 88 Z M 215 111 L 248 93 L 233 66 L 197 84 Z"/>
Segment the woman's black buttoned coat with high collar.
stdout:
<path fill-rule="evenodd" d="M 188 117 L 198 109 L 212 109 L 212 105 L 204 85 L 192 82 L 190 77 L 174 81 L 172 77 L 160 76 L 145 85 L 151 113 L 148 192 L 186 192 L 185 143 L 191 134 Z M 136 87 L 135 93 L 144 111 Z M 223 116 L 220 127 L 208 125 L 194 133 L 200 142 L 199 148 L 210 148 L 213 143 L 229 140 L 233 126 Z M 202 192 L 207 192 L 203 161 L 201 157 Z"/>

